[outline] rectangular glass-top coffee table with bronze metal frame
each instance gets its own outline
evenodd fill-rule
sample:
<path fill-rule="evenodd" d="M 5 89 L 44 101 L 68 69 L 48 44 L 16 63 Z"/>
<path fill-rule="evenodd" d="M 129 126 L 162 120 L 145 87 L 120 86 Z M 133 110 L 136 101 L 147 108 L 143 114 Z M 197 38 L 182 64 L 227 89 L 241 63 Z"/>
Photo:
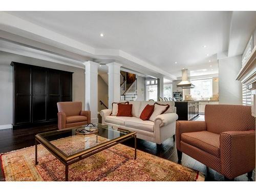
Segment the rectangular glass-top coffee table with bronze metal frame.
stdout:
<path fill-rule="evenodd" d="M 136 132 L 118 127 L 97 123 L 91 127 L 83 125 L 40 133 L 35 136 L 35 164 L 38 164 L 37 144 L 40 143 L 65 165 L 65 180 L 68 181 L 69 165 L 132 138 L 134 138 L 134 159 L 136 159 Z"/>

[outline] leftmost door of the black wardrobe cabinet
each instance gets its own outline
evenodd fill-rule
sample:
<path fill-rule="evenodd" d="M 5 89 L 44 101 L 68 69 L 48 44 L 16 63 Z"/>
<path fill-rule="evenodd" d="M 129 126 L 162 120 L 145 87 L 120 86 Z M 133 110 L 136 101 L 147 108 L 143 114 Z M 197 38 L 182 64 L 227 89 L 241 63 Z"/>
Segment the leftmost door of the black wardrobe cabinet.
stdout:
<path fill-rule="evenodd" d="M 31 122 L 30 66 L 14 66 L 14 125 Z"/>

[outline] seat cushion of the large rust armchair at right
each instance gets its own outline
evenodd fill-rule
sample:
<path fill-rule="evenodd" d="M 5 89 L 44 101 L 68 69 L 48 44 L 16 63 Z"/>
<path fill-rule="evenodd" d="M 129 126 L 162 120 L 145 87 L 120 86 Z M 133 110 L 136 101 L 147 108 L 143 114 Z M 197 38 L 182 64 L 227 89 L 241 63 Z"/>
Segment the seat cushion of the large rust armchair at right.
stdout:
<path fill-rule="evenodd" d="M 208 131 L 181 134 L 181 141 L 220 158 L 220 135 Z"/>

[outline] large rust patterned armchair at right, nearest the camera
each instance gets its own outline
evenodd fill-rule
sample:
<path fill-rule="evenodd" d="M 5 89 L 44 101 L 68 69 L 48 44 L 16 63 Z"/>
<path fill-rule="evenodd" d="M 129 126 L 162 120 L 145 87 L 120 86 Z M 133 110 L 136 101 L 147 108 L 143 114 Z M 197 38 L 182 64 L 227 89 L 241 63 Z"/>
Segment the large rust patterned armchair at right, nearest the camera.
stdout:
<path fill-rule="evenodd" d="M 177 121 L 176 147 L 224 175 L 225 180 L 255 168 L 255 118 L 251 106 L 206 105 L 205 121 Z"/>

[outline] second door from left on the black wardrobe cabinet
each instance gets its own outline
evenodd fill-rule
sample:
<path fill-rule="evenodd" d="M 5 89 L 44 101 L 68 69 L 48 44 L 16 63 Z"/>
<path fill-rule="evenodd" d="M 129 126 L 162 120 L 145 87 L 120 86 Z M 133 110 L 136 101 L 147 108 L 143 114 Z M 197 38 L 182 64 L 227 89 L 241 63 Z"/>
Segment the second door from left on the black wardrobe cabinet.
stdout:
<path fill-rule="evenodd" d="M 46 69 L 32 68 L 32 119 L 46 121 Z"/>

